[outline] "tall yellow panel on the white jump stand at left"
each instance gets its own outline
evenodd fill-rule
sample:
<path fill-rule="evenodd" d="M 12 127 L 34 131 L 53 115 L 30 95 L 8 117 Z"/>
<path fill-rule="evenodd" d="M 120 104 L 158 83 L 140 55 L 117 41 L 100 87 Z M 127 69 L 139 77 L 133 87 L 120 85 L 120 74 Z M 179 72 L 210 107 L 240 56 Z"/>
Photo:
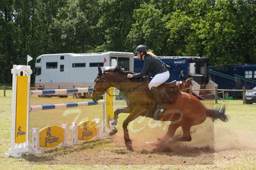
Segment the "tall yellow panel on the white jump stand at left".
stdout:
<path fill-rule="evenodd" d="M 28 111 L 28 76 L 17 76 L 15 143 L 25 143 Z"/>

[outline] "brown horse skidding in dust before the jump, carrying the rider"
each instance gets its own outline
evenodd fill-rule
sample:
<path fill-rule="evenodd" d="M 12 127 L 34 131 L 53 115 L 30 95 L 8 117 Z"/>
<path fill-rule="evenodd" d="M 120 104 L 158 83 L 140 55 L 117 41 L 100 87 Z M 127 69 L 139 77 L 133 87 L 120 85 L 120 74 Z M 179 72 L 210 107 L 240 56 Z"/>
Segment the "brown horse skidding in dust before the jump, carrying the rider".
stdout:
<path fill-rule="evenodd" d="M 129 116 L 122 124 L 124 141 L 127 150 L 133 151 L 127 129 L 129 122 L 140 116 L 154 118 L 156 111 L 156 104 L 148 89 L 148 82 L 141 82 L 140 78 L 129 79 L 127 73 L 118 67 L 103 72 L 100 67 L 98 69 L 99 73 L 95 78 L 92 99 L 99 101 L 103 94 L 108 93 L 109 87 L 115 87 L 125 95 L 129 105 L 125 113 L 129 113 Z M 228 117 L 225 115 L 225 106 L 214 110 L 207 109 L 195 96 L 180 91 L 176 82 L 163 83 L 157 88 L 161 91 L 162 101 L 166 104 L 163 113 L 157 117 L 157 120 L 172 122 L 163 138 L 157 140 L 156 146 L 166 145 L 167 141 L 168 143 L 191 141 L 191 127 L 202 124 L 207 117 L 212 120 L 228 121 Z M 182 137 L 174 137 L 178 127 L 182 127 Z"/>

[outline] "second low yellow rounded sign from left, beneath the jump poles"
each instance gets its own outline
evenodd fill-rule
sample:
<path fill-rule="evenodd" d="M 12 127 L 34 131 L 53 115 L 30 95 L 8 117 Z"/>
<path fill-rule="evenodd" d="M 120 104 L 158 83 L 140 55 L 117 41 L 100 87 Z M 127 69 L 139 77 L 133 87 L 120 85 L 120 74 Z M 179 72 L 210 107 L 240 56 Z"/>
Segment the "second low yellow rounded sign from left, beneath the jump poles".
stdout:
<path fill-rule="evenodd" d="M 77 138 L 79 140 L 89 140 L 97 136 L 97 123 L 93 121 L 81 122 L 77 126 Z"/>

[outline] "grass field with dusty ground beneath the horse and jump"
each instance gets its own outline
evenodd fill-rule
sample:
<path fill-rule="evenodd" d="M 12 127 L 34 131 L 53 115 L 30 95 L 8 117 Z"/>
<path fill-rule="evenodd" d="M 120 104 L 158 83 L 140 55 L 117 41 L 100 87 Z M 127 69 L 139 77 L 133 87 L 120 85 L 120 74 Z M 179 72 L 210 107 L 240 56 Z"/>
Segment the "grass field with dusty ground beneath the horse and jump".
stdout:
<path fill-rule="evenodd" d="M 10 148 L 12 94 L 0 90 L 0 151 Z M 32 97 L 31 105 L 74 103 L 86 99 Z M 213 101 L 203 102 L 213 107 Z M 193 140 L 170 146 L 170 151 L 152 152 L 145 141 L 152 141 L 166 132 L 168 124 L 138 118 L 129 125 L 135 152 L 125 150 L 122 122 L 127 114 L 118 118 L 118 133 L 105 141 L 86 141 L 72 148 L 48 149 L 44 155 L 21 159 L 0 157 L 0 169 L 256 169 L 256 104 L 243 105 L 242 101 L 219 101 L 226 104 L 230 120 L 211 122 L 191 129 Z M 124 101 L 117 101 L 125 106 Z M 218 104 L 217 104 L 218 105 Z M 30 115 L 30 127 L 70 124 L 102 117 L 102 106 L 35 111 Z M 177 135 L 181 130 L 178 129 Z"/>

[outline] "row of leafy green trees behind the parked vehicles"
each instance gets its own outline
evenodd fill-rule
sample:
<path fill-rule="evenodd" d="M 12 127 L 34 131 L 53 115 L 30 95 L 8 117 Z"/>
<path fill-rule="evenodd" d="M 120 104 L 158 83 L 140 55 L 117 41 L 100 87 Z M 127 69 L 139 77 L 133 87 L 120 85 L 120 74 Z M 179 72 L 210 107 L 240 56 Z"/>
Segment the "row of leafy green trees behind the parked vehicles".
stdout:
<path fill-rule="evenodd" d="M 255 0 L 1 0 L 0 82 L 27 54 L 134 52 L 256 64 Z"/>

